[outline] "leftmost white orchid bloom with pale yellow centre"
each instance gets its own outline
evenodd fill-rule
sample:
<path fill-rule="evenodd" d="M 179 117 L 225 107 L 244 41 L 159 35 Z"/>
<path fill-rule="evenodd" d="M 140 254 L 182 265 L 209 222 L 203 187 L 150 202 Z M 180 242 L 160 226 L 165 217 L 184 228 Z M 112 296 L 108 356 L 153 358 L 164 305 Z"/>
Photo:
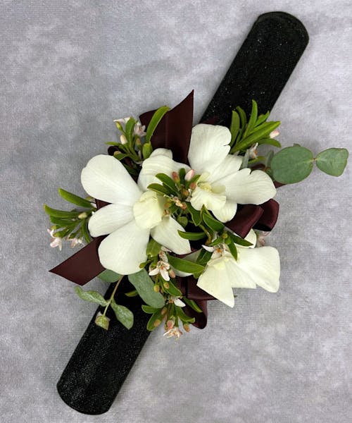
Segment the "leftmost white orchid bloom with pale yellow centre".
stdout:
<path fill-rule="evenodd" d="M 158 157 L 154 159 L 159 161 Z M 163 173 L 171 175 L 177 168 L 176 162 L 170 156 L 162 161 Z M 139 176 L 137 185 L 114 157 L 104 154 L 93 157 L 82 170 L 81 181 L 89 195 L 111 203 L 92 215 L 88 227 L 93 237 L 108 235 L 98 250 L 106 269 L 123 275 L 138 272 L 139 264 L 146 261 L 149 235 L 176 254 L 191 251 L 189 241 L 177 232 L 184 228 L 172 217 L 165 216 L 163 197 L 146 190 L 149 183 L 143 176 Z"/>

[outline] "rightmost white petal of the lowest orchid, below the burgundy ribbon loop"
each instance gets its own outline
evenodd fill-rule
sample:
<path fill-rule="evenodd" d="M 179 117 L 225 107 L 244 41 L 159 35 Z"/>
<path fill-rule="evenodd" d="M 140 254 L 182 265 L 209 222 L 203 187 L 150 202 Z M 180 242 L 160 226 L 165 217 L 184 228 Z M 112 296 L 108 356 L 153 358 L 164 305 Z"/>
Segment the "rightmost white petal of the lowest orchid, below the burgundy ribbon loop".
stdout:
<path fill-rule="evenodd" d="M 280 260 L 274 247 L 238 247 L 237 266 L 270 293 L 279 289 Z"/>

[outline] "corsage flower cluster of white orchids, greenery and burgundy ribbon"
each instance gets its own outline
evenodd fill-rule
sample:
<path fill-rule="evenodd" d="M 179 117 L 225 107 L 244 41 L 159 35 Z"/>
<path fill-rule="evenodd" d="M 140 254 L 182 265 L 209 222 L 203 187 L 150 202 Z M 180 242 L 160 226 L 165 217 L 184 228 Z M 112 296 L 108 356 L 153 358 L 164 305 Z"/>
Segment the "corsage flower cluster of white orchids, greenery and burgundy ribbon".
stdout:
<path fill-rule="evenodd" d="M 108 142 L 109 154 L 93 157 L 82 170 L 89 197 L 60 189 L 75 209 L 44 205 L 51 247 L 99 241 L 99 277 L 116 282 L 113 293 L 106 299 L 95 290 L 75 290 L 82 300 L 104 307 L 95 320 L 103 329 L 109 307 L 127 329 L 133 325 L 130 309 L 115 301 L 124 276 L 133 288 L 126 295 L 139 295 L 151 314 L 147 329 L 164 322 L 164 335 L 176 338 L 182 326 L 202 327 L 206 300 L 234 307 L 233 288 L 277 292 L 279 252 L 265 245 L 277 220 L 277 188 L 303 180 L 314 164 L 332 176 L 346 166 L 348 152 L 341 148 L 314 157 L 295 144 L 260 155 L 262 145 L 281 147 L 279 122 L 268 121 L 269 112 L 258 114 L 254 100 L 249 118 L 240 107 L 232 111 L 230 128 L 191 128 L 190 102 L 193 107 L 192 96 L 175 109 L 163 106 L 142 115 L 146 125 L 132 117 L 115 121 L 120 142 Z M 183 161 L 177 161 L 181 149 Z"/>

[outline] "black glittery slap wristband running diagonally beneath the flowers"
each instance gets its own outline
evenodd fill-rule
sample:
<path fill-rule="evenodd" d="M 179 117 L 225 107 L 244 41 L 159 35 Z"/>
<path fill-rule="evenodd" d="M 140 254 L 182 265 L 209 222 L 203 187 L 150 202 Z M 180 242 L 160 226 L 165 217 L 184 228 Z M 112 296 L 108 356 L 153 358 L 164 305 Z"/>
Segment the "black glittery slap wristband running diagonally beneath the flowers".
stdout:
<path fill-rule="evenodd" d="M 251 99 L 256 99 L 261 113 L 271 110 L 307 44 L 306 29 L 294 16 L 283 12 L 259 16 L 201 121 L 217 116 L 218 123 L 229 125 L 232 109 L 239 105 L 248 113 Z M 125 279 L 116 298 L 134 313 L 132 329 L 108 314 L 111 322 L 105 331 L 94 324 L 94 314 L 58 381 L 61 398 L 77 411 L 99 415 L 111 407 L 149 336 L 149 315 L 142 311 L 142 301 L 124 295 L 132 289 Z M 106 298 L 112 291 L 113 286 Z"/>

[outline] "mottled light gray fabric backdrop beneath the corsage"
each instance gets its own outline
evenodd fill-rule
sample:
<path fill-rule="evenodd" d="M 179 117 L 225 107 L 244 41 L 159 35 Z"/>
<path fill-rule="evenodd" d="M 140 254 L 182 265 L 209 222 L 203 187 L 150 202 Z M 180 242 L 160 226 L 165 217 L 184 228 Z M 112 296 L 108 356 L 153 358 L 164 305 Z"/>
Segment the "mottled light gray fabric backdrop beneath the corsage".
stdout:
<path fill-rule="evenodd" d="M 279 139 L 315 152 L 351 148 L 351 6 L 239 1 L 9 1 L 0 13 L 0 416 L 17 422 L 350 422 L 351 166 L 281 188 L 270 245 L 279 293 L 238 290 L 209 304 L 208 326 L 180 341 L 155 331 L 111 410 L 80 415 L 56 393 L 95 310 L 48 269 L 42 204 L 83 194 L 80 170 L 113 118 L 180 102 L 195 122 L 260 13 L 300 18 L 310 44 L 277 102 Z M 89 288 L 105 289 L 94 280 Z"/>

